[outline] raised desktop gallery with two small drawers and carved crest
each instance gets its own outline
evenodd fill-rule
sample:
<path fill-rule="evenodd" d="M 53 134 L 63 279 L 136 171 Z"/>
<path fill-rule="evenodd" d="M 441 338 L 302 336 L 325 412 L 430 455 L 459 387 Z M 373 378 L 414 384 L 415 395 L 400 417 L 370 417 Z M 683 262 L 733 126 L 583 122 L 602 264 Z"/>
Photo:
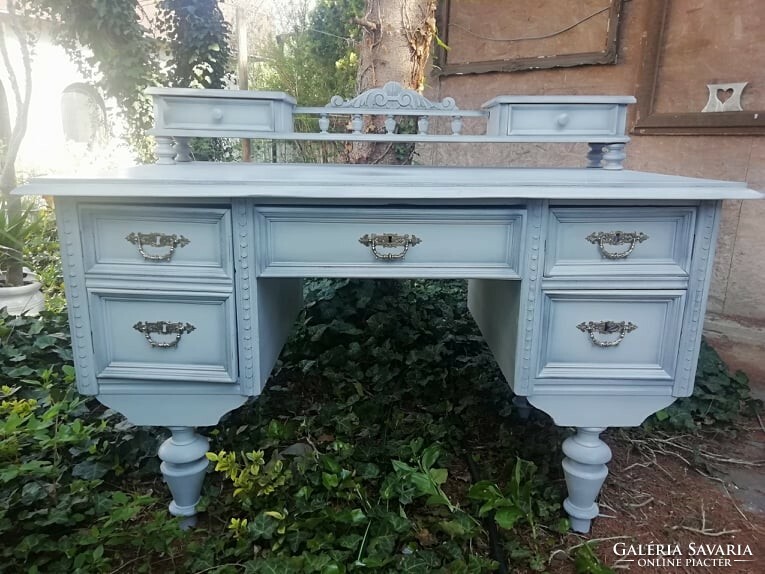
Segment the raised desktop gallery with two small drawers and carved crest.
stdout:
<path fill-rule="evenodd" d="M 324 107 L 299 107 L 282 92 L 150 88 L 158 163 L 191 161 L 189 137 L 296 141 L 583 142 L 587 167 L 621 169 L 631 96 L 499 96 L 481 110 L 433 102 L 395 82 Z M 463 134 L 464 120 L 475 120 Z M 309 121 L 298 121 L 309 119 Z M 407 121 L 408 120 L 408 121 Z M 295 130 L 295 124 L 301 127 Z M 316 126 L 318 131 L 306 131 Z M 416 130 L 414 127 L 416 126 Z M 416 131 L 416 133 L 410 133 Z"/>

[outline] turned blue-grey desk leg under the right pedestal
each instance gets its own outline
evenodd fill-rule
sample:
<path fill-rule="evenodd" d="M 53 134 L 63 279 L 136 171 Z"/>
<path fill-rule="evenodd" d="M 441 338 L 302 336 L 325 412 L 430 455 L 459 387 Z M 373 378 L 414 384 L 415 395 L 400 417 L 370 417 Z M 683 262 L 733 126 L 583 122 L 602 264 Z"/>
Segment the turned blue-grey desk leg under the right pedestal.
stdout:
<path fill-rule="evenodd" d="M 571 519 L 571 529 L 589 532 L 592 519 L 598 515 L 595 500 L 608 475 L 606 463 L 611 460 L 611 449 L 600 440 L 605 428 L 581 427 L 576 434 L 563 441 L 563 473 L 568 487 L 568 498 L 563 508 Z"/>

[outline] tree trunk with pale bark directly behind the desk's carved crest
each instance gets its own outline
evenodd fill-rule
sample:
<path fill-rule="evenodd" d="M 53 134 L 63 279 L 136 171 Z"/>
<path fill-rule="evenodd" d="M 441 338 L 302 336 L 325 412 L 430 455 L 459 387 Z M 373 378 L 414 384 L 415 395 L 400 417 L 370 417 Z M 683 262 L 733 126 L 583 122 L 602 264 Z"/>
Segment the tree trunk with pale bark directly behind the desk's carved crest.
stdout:
<path fill-rule="evenodd" d="M 364 18 L 356 23 L 363 34 L 359 47 L 358 93 L 398 82 L 405 88 L 422 91 L 430 70 L 430 47 L 436 33 L 438 0 L 366 0 Z M 382 123 L 382 120 L 380 121 Z M 367 130 L 384 131 L 376 123 Z M 352 163 L 408 163 L 408 153 L 399 145 L 356 144 Z"/>

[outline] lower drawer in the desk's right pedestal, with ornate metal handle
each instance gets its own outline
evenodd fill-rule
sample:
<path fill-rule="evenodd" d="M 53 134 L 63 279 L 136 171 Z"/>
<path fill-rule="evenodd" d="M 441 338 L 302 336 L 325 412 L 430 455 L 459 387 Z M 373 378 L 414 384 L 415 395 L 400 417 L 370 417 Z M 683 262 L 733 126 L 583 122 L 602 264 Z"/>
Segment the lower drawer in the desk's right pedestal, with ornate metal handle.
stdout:
<path fill-rule="evenodd" d="M 549 291 L 538 378 L 647 379 L 675 375 L 684 291 Z"/>

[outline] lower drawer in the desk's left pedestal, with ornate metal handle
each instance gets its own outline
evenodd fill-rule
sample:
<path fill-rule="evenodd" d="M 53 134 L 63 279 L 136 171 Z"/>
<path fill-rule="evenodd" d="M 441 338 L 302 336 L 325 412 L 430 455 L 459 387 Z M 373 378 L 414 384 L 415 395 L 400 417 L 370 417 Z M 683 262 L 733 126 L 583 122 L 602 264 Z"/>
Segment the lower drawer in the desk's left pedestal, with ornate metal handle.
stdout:
<path fill-rule="evenodd" d="M 234 383 L 232 294 L 90 293 L 97 376 Z"/>

